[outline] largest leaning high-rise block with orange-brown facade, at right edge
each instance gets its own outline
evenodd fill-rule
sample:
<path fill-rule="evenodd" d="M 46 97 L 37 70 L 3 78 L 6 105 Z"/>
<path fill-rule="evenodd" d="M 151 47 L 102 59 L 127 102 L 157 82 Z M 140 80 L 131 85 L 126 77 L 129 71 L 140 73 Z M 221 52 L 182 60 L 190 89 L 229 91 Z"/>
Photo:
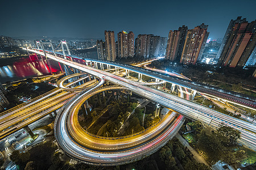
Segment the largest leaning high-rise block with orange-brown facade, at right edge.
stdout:
<path fill-rule="evenodd" d="M 219 50 L 218 67 L 243 67 L 256 45 L 256 20 L 248 23 L 239 16 L 231 20 L 227 32 L 228 36 L 222 41 L 223 49 Z"/>

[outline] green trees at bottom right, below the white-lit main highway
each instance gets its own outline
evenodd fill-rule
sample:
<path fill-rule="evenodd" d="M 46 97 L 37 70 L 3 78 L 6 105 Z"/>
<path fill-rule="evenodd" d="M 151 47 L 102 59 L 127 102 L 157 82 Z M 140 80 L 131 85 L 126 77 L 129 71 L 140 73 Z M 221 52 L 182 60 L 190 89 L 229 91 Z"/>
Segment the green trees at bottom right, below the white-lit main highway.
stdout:
<path fill-rule="evenodd" d="M 183 135 L 189 138 L 189 143 L 203 155 L 209 163 L 214 164 L 222 160 L 228 164 L 253 164 L 256 162 L 256 152 L 238 145 L 237 140 L 241 132 L 229 126 L 220 126 L 217 131 L 203 128 L 201 122 L 189 122 L 187 125 L 193 133 Z M 183 127 L 183 130 L 185 128 Z M 239 167 L 237 167 L 239 168 Z"/>

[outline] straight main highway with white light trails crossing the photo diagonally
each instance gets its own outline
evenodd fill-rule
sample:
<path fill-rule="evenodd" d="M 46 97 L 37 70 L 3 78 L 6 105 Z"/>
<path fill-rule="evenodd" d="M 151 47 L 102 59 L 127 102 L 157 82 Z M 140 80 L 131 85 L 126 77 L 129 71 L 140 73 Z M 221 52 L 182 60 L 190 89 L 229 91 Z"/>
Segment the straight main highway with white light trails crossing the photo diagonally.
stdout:
<path fill-rule="evenodd" d="M 29 50 L 31 52 L 38 53 L 44 56 L 44 53 L 39 52 L 38 50 Z M 180 97 L 171 94 L 166 94 L 163 91 L 143 86 L 142 84 L 132 82 L 131 80 L 128 80 L 126 78 L 113 75 L 105 71 L 95 69 L 93 67 L 85 66 L 81 63 L 68 61 L 67 59 L 56 57 L 51 54 L 47 54 L 47 57 L 57 62 L 64 63 L 65 65 L 71 66 L 75 69 L 84 71 L 88 74 L 95 75 L 100 78 L 104 77 L 110 82 L 129 88 L 129 90 L 134 91 L 135 93 L 144 96 L 152 101 L 156 101 L 164 107 L 180 113 L 183 116 L 192 118 L 194 120 L 203 121 L 216 128 L 218 128 L 220 124 L 225 124 L 227 126 L 231 126 L 232 128 L 238 129 L 241 131 L 241 137 L 245 145 L 254 149 L 256 148 L 256 126 L 250 124 L 249 122 L 238 120 L 237 118 L 227 116 L 220 112 L 213 111 L 209 108 L 205 108 L 199 104 L 193 103 L 192 101 L 181 99 Z M 154 76 L 158 78 L 155 74 Z"/>

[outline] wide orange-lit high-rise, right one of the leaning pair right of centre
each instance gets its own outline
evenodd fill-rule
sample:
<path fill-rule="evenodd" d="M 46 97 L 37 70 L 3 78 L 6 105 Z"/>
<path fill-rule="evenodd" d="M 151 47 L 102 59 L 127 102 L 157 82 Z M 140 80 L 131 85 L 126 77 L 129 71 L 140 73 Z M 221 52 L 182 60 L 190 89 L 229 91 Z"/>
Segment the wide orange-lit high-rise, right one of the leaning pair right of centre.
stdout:
<path fill-rule="evenodd" d="M 208 39 L 209 32 L 207 32 L 208 25 L 204 23 L 189 29 L 181 53 L 180 63 L 185 65 L 195 65 L 197 59 L 201 59 L 203 55 L 204 46 Z"/>

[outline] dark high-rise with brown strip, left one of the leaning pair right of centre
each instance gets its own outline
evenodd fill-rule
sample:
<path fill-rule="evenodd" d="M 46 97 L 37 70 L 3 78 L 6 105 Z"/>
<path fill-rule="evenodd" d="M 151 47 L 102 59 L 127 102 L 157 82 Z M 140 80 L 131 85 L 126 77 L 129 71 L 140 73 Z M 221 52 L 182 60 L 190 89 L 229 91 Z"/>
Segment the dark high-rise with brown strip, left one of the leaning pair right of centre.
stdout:
<path fill-rule="evenodd" d="M 170 31 L 166 47 L 166 59 L 170 61 L 180 62 L 181 53 L 183 50 L 185 38 L 188 32 L 188 27 L 182 25 L 178 30 Z"/>

